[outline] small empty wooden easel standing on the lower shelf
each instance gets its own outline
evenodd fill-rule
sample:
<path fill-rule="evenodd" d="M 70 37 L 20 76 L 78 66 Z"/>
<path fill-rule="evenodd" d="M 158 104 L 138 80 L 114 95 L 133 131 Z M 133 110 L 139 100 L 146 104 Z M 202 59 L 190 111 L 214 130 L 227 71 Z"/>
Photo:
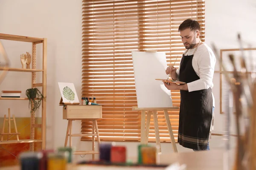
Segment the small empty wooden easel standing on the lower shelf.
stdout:
<path fill-rule="evenodd" d="M 13 120 L 14 122 L 14 127 L 15 127 L 15 133 L 11 133 L 11 120 Z M 4 133 L 4 129 L 5 129 L 5 122 L 8 121 L 8 127 L 9 127 L 9 132 L 8 133 Z M 17 131 L 17 125 L 16 125 L 16 120 L 15 120 L 15 116 L 12 115 L 12 119 L 11 119 L 11 113 L 10 113 L 10 108 L 8 108 L 8 119 L 6 119 L 6 114 L 4 115 L 3 118 L 3 128 L 2 128 L 2 133 L 0 133 L 0 137 L 1 137 L 1 142 L 3 141 L 3 136 L 7 135 L 7 141 L 9 140 L 9 135 L 16 135 L 17 137 L 17 141 L 19 141 L 19 134 Z"/>

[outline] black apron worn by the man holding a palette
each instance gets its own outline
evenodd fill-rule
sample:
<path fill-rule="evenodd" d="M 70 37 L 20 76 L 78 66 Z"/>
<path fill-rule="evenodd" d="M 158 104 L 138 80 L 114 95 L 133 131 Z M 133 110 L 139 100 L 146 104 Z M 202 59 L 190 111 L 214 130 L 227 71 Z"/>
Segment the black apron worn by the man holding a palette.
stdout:
<path fill-rule="evenodd" d="M 189 56 L 185 56 L 185 54 L 183 54 L 180 62 L 179 81 L 189 83 L 200 79 L 200 77 L 198 77 L 192 67 L 192 59 L 195 52 Z M 212 89 L 208 88 L 192 92 L 181 90 L 179 144 L 195 150 L 206 150 L 211 122 Z"/>

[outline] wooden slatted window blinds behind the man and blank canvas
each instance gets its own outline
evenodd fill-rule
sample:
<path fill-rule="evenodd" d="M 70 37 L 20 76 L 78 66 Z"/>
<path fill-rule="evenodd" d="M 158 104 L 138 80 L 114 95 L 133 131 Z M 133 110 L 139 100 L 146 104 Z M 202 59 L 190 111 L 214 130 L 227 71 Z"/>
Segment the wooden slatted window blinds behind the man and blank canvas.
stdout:
<path fill-rule="evenodd" d="M 204 0 L 84 0 L 82 16 L 82 97 L 96 97 L 103 105 L 97 121 L 100 139 L 140 141 L 140 112 L 132 111 L 137 100 L 131 51 L 164 51 L 168 64 L 178 56 L 178 67 L 185 50 L 178 26 L 188 18 L 197 20 L 204 41 Z M 172 91 L 172 100 L 179 107 L 179 91 Z M 179 110 L 169 117 L 177 141 Z M 154 141 L 151 119 L 148 140 Z M 160 141 L 170 142 L 163 112 L 158 121 Z M 81 133 L 88 132 L 92 123 L 82 121 Z"/>

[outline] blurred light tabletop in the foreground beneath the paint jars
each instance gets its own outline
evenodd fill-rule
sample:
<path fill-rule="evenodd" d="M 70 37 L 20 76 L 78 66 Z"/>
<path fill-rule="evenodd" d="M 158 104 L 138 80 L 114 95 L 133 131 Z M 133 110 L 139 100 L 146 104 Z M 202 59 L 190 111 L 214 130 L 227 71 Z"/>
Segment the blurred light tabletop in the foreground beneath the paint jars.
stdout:
<path fill-rule="evenodd" d="M 179 163 L 186 164 L 186 170 L 224 170 L 224 162 L 226 159 L 224 150 L 210 150 L 210 151 L 197 151 L 197 152 L 183 152 L 183 153 L 170 153 L 162 154 L 159 156 L 160 164 L 173 164 Z M 235 154 L 229 151 L 231 161 L 234 159 Z M 136 158 L 131 158 L 136 160 Z M 232 166 L 232 164 L 230 165 Z M 98 165 L 74 165 L 69 164 L 67 170 L 165 170 L 163 167 L 117 167 L 117 166 L 98 166 Z M 229 168 L 230 169 L 230 168 Z M 3 167 L 0 170 L 20 170 L 19 166 Z"/>

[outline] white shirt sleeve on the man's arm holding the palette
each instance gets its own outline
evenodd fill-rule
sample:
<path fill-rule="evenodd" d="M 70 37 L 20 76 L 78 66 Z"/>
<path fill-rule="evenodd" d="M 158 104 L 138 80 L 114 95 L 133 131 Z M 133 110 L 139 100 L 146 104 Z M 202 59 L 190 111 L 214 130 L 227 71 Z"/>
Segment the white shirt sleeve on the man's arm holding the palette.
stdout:
<path fill-rule="evenodd" d="M 209 51 L 202 53 L 198 57 L 198 69 L 200 79 L 187 83 L 189 92 L 208 89 L 212 84 L 214 67 L 215 67 L 215 56 Z"/>

